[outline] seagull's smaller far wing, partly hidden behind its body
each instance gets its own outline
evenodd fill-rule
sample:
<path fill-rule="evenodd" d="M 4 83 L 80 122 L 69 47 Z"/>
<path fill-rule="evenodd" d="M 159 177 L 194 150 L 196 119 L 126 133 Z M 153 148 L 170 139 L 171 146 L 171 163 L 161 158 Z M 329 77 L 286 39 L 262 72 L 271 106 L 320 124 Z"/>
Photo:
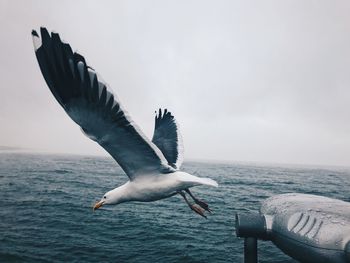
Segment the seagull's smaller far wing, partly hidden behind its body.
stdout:
<path fill-rule="evenodd" d="M 171 112 L 159 109 L 155 117 L 152 142 L 162 151 L 168 164 L 179 169 L 183 162 L 183 143 L 179 127 Z"/>

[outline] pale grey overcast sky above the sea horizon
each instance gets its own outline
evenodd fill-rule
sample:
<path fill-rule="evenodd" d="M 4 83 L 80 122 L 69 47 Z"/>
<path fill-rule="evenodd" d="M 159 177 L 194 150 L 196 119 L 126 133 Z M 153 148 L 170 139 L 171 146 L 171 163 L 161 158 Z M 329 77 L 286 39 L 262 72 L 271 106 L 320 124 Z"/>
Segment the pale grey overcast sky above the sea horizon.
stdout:
<path fill-rule="evenodd" d="M 83 54 L 151 137 L 185 159 L 350 165 L 350 2 L 0 0 L 0 145 L 104 154 L 56 102 L 30 32 Z"/>

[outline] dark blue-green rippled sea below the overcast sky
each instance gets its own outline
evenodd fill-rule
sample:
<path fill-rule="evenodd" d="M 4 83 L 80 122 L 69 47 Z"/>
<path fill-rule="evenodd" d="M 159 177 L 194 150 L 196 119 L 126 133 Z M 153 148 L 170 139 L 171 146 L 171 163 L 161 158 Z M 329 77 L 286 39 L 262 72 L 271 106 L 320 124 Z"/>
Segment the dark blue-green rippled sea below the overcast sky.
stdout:
<path fill-rule="evenodd" d="M 181 196 L 141 203 L 92 205 L 127 181 L 108 157 L 0 153 L 0 262 L 243 262 L 235 214 L 258 212 L 281 193 L 350 201 L 350 169 L 225 162 L 185 162 L 218 188 L 192 192 L 212 214 L 193 213 Z M 296 262 L 269 241 L 259 262 Z"/>

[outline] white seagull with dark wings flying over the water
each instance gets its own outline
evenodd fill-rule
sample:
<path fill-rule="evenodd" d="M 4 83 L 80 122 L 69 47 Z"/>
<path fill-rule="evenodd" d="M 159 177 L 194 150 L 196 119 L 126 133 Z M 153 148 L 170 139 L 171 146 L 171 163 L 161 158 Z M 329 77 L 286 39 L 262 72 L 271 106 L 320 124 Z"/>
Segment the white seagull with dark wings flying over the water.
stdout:
<path fill-rule="evenodd" d="M 41 73 L 57 102 L 82 132 L 104 148 L 124 170 L 129 180 L 103 195 L 93 210 L 124 202 L 151 202 L 181 195 L 195 213 L 211 213 L 191 187 L 217 187 L 216 181 L 180 171 L 183 144 L 178 124 L 167 109 L 155 115 L 150 141 L 132 121 L 118 98 L 85 58 L 73 52 L 58 33 L 33 30 L 33 44 Z M 188 196 L 193 200 L 189 200 Z"/>

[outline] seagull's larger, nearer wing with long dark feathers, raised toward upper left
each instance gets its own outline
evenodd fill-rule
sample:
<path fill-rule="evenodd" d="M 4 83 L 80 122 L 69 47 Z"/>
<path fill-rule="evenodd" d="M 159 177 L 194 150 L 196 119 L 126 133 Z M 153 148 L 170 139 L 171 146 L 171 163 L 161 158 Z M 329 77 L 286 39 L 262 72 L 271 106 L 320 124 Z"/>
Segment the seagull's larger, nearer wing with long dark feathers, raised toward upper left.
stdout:
<path fill-rule="evenodd" d="M 57 33 L 32 31 L 35 54 L 52 94 L 84 133 L 99 143 L 131 180 L 140 175 L 169 173 L 161 151 L 123 110 L 118 99 Z"/>

